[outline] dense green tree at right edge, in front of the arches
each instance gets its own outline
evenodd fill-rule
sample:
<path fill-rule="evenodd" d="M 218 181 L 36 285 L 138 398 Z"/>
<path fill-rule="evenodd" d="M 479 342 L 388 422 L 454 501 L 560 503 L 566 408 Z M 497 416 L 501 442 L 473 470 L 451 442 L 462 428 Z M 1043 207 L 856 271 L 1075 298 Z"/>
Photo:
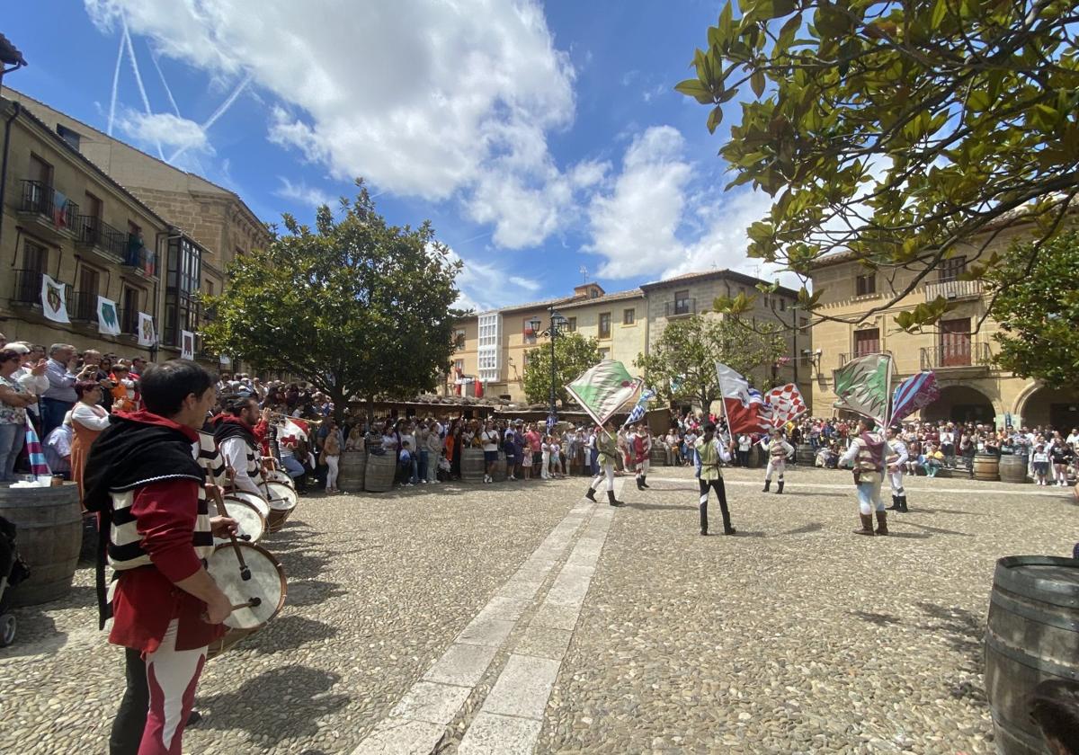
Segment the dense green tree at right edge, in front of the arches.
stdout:
<path fill-rule="evenodd" d="M 997 365 L 1053 388 L 1079 390 L 1079 232 L 1069 231 L 1034 257 L 1011 250 L 986 282 L 997 296 L 989 314 Z"/>

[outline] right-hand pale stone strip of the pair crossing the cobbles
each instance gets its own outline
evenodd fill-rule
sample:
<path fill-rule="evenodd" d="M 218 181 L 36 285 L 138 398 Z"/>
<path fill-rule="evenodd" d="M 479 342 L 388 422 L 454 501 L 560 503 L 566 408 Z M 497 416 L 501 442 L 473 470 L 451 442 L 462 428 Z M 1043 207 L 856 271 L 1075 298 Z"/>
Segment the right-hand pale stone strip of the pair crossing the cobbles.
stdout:
<path fill-rule="evenodd" d="M 598 509 L 593 514 L 483 700 L 457 746 L 457 755 L 530 755 L 535 750 L 547 699 L 591 586 L 613 516 L 612 508 Z"/>

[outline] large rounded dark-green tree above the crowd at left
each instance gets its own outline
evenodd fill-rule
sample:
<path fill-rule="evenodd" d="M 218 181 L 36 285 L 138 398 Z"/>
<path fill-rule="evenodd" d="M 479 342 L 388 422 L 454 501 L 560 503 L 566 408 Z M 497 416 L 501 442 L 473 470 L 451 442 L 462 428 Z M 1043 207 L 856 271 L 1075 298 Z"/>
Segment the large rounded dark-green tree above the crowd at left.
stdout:
<path fill-rule="evenodd" d="M 302 376 L 333 399 L 405 398 L 434 387 L 453 351 L 460 261 L 419 229 L 388 225 L 363 182 L 315 228 L 283 217 L 284 235 L 237 257 L 206 304 L 213 351 Z M 370 404 L 369 404 L 370 406 Z"/>

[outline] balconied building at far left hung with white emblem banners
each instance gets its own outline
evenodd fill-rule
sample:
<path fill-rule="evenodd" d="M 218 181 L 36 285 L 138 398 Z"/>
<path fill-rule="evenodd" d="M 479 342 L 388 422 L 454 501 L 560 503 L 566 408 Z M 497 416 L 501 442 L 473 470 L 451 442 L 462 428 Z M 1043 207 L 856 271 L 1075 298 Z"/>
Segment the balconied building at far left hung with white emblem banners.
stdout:
<path fill-rule="evenodd" d="M 21 105 L 0 99 L 0 331 L 152 358 L 138 346 L 138 315 L 161 329 L 164 262 L 186 237 Z M 69 324 L 44 316 L 46 275 L 65 285 Z M 117 305 L 120 334 L 99 332 L 98 297 Z"/>

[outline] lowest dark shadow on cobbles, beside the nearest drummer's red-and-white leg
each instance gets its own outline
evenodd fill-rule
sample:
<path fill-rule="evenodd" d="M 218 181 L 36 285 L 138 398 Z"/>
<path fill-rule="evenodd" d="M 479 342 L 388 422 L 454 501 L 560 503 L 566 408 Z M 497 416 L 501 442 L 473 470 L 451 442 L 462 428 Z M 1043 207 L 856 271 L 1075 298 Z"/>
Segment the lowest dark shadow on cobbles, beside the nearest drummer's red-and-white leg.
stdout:
<path fill-rule="evenodd" d="M 303 665 L 275 669 L 248 680 L 234 692 L 200 697 L 200 728 L 241 729 L 271 745 L 319 732 L 318 718 L 340 710 L 352 698 L 330 695 L 341 680 Z M 311 751 L 308 751 L 311 752 Z"/>

